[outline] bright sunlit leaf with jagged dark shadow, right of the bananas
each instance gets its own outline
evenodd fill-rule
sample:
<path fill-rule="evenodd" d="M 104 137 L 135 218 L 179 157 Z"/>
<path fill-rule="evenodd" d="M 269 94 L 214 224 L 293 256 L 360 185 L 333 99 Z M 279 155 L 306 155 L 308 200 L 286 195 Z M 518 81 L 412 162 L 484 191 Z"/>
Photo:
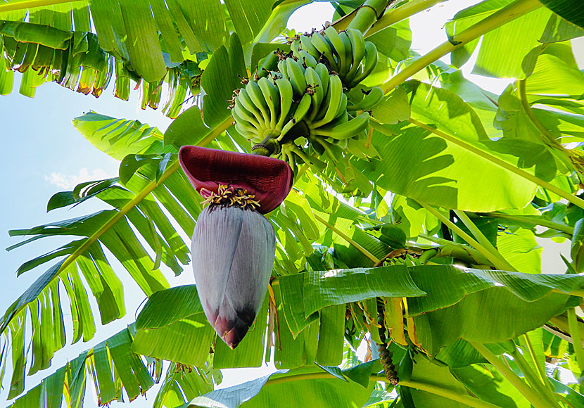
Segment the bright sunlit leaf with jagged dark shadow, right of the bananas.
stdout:
<path fill-rule="evenodd" d="M 426 203 L 464 210 L 523 208 L 531 200 L 535 184 L 497 162 L 503 155 L 512 164 L 523 152 L 491 147 L 497 142 L 487 138 L 479 117 L 459 96 L 419 84 L 412 117 L 416 120 L 412 123 L 374 125 L 372 144 L 383 160 L 360 161 L 358 167 L 376 184 Z M 445 139 L 443 133 L 452 138 Z M 481 172 L 468 171 L 475 167 Z M 499 180 L 497 186 L 493 179 Z M 502 184 L 507 187 L 500 188 Z"/>

